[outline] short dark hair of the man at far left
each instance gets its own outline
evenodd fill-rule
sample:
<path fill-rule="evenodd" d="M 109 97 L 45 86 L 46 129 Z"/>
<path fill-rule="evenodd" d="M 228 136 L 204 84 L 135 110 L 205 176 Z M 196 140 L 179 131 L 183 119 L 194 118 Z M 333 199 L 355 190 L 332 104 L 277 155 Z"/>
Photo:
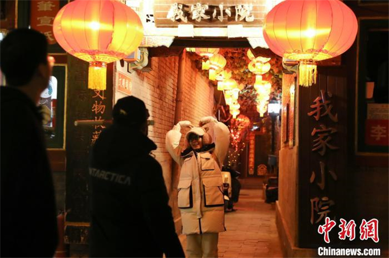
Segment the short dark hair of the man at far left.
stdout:
<path fill-rule="evenodd" d="M 47 64 L 47 39 L 31 29 L 9 32 L 0 43 L 0 67 L 10 86 L 21 86 L 34 76 L 39 64 Z"/>

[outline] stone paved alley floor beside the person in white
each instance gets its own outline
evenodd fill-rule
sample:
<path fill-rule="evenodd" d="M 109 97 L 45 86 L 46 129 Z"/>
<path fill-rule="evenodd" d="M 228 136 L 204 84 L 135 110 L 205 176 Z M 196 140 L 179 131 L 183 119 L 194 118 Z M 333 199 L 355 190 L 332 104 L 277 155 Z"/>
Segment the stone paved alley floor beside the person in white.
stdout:
<path fill-rule="evenodd" d="M 276 227 L 275 204 L 262 189 L 242 189 L 236 211 L 226 213 L 227 231 L 219 234 L 219 257 L 283 257 Z M 185 236 L 180 236 L 185 250 Z"/>

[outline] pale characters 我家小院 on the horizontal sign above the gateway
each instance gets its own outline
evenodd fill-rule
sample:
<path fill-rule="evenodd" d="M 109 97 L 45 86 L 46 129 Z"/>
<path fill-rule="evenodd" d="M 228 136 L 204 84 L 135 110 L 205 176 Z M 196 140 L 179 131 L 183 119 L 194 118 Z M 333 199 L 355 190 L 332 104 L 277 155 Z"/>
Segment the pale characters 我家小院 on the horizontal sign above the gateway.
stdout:
<path fill-rule="evenodd" d="M 237 4 L 224 6 L 208 5 L 197 2 L 195 4 L 186 5 L 183 3 L 173 3 L 170 6 L 166 18 L 171 21 L 184 22 L 202 20 L 223 22 L 224 19 L 233 18 L 235 21 L 254 21 L 253 5 L 252 4 Z"/>

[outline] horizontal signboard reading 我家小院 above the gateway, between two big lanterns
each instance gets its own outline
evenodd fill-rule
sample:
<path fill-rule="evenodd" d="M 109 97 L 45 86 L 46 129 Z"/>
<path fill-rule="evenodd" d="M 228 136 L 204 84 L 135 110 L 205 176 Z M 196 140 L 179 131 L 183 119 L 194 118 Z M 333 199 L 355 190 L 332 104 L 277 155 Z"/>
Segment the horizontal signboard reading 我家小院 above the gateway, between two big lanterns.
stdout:
<path fill-rule="evenodd" d="M 263 0 L 155 0 L 154 20 L 157 27 L 258 27 L 263 25 L 267 9 Z"/>

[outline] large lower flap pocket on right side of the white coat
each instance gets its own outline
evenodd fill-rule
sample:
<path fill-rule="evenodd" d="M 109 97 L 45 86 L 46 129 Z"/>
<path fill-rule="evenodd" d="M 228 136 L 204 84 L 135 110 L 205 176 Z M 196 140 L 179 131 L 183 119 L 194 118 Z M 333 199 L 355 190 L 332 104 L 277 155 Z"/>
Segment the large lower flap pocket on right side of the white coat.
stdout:
<path fill-rule="evenodd" d="M 204 206 L 216 207 L 224 205 L 222 190 L 222 178 L 209 177 L 203 178 L 204 185 Z"/>

